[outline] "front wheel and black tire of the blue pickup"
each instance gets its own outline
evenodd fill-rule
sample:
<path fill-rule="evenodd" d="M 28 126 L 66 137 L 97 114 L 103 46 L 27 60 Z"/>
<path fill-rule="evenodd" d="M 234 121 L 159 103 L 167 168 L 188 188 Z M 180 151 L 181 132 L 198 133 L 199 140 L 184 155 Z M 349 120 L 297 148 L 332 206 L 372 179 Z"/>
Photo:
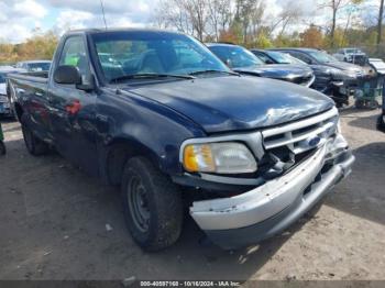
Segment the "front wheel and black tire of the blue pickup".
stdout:
<path fill-rule="evenodd" d="M 128 160 L 121 190 L 125 222 L 139 246 L 155 252 L 179 239 L 184 217 L 180 192 L 148 159 Z"/>

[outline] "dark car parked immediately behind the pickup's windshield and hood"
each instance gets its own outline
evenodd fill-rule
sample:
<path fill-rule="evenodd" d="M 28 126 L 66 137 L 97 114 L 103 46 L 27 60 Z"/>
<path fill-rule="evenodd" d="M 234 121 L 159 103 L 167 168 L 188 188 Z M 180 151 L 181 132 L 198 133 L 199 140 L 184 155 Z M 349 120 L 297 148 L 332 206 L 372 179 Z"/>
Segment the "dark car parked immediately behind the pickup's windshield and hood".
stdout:
<path fill-rule="evenodd" d="M 315 81 L 312 70 L 299 65 L 265 65 L 246 48 L 232 44 L 210 43 L 209 49 L 231 69 L 240 74 L 273 78 L 310 87 Z"/>

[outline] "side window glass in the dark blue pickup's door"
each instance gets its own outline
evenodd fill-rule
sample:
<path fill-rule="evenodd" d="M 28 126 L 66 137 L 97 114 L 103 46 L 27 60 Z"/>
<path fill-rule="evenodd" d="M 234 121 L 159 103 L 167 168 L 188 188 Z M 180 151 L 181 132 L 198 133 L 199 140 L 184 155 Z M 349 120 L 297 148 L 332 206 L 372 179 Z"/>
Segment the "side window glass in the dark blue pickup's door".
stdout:
<path fill-rule="evenodd" d="M 59 65 L 77 67 L 80 71 L 82 82 L 87 84 L 90 69 L 85 42 L 82 41 L 81 36 L 73 36 L 67 38 L 63 47 Z"/>

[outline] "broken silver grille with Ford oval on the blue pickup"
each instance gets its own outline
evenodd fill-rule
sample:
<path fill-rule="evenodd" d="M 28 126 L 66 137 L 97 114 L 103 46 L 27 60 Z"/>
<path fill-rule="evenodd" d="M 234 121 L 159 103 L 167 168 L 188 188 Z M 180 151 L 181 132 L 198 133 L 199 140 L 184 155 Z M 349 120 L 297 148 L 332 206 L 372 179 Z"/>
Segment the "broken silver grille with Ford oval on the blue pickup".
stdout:
<path fill-rule="evenodd" d="M 266 151 L 287 147 L 296 155 L 314 149 L 336 133 L 338 120 L 338 110 L 333 108 L 306 120 L 264 130 L 264 147 Z"/>

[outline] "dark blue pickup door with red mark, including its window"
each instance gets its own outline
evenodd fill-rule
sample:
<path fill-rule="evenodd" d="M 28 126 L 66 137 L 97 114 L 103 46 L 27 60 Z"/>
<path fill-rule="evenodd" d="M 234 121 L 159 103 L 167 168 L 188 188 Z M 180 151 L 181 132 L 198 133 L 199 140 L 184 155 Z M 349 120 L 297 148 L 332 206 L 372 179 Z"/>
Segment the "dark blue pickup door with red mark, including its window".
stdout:
<path fill-rule="evenodd" d="M 82 84 L 90 79 L 90 60 L 87 42 L 82 35 L 69 36 L 65 41 L 57 65 L 77 67 Z M 96 98 L 95 91 L 87 92 L 78 89 L 76 85 L 57 84 L 52 79 L 51 125 L 56 149 L 95 176 L 98 175 Z"/>

